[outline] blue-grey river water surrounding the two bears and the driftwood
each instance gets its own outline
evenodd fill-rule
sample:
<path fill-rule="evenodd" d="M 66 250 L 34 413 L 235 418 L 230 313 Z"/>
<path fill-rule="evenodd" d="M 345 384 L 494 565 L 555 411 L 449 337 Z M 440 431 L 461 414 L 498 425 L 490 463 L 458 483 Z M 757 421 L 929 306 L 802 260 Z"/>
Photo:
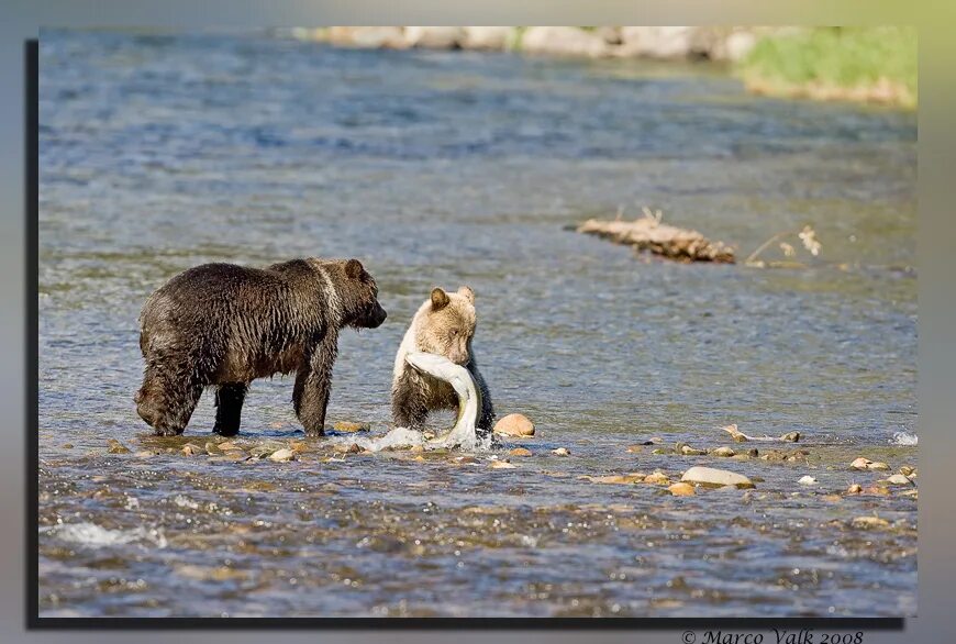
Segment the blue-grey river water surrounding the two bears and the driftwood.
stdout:
<path fill-rule="evenodd" d="M 915 612 L 915 499 L 833 496 L 885 478 L 856 456 L 916 465 L 892 444 L 918 433 L 913 114 L 755 98 L 708 66 L 266 35 L 44 32 L 40 92 L 43 615 Z M 744 255 L 804 223 L 823 249 L 677 265 L 564 230 L 643 204 Z M 468 284 L 497 411 L 535 421 L 534 455 L 184 456 L 211 397 L 185 438 L 151 438 L 132 403 L 149 292 L 303 255 L 359 257 L 389 311 L 343 334 L 330 423 L 388 430 L 412 312 Z M 290 397 L 255 382 L 243 440 L 301 438 Z M 777 447 L 809 455 L 625 451 L 729 444 L 730 423 L 800 431 Z M 578 478 L 697 464 L 763 480 L 676 498 Z M 874 512 L 890 525 L 852 526 Z"/>

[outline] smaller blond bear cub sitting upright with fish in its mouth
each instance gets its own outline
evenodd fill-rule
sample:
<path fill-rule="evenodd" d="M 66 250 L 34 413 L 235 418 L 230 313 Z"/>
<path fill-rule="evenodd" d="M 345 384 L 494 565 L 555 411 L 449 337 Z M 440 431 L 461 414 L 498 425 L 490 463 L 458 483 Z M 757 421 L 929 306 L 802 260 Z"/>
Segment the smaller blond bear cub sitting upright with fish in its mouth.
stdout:
<path fill-rule="evenodd" d="M 411 352 L 426 352 L 445 356 L 468 369 L 475 386 L 481 391 L 477 429 L 479 432 L 491 431 L 494 409 L 471 351 L 476 324 L 475 292 L 470 288 L 463 286 L 456 292 L 441 288 L 432 290 L 431 297 L 412 318 L 394 358 L 391 412 L 396 426 L 422 429 L 430 412 L 458 408 L 451 385 L 416 371 L 405 362 Z"/>

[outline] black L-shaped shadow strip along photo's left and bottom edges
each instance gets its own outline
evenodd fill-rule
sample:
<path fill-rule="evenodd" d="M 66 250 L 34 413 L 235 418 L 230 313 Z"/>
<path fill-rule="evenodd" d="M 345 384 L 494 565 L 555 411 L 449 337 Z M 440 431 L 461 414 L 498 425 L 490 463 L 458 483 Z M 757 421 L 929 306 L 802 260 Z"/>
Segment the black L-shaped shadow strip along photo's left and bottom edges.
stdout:
<path fill-rule="evenodd" d="M 24 43 L 26 214 L 26 629 L 27 630 L 633 630 L 902 631 L 903 618 L 41 618 L 40 617 L 40 42 Z"/>

